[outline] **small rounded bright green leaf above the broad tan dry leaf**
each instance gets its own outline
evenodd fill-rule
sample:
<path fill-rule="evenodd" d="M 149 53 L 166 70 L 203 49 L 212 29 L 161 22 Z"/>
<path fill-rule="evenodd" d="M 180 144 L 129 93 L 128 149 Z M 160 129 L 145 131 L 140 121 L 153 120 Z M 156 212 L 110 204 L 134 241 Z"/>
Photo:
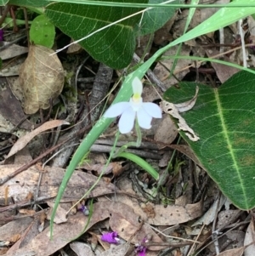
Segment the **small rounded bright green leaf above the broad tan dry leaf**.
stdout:
<path fill-rule="evenodd" d="M 54 45 L 55 27 L 45 15 L 39 15 L 32 21 L 29 35 L 32 43 L 52 48 Z"/>

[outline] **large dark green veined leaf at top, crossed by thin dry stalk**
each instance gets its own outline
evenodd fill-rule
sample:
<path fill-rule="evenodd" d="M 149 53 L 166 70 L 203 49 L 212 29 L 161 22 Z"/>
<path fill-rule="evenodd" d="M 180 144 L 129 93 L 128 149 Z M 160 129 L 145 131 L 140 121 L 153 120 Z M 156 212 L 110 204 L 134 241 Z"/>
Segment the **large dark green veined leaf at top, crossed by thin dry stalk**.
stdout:
<path fill-rule="evenodd" d="M 128 2 L 137 3 L 138 1 L 128 0 Z M 139 2 L 145 3 L 146 0 L 139 0 Z M 135 8 L 54 3 L 48 5 L 45 14 L 61 31 L 77 40 L 138 11 L 139 9 Z M 139 19 L 140 15 L 135 15 L 123 20 L 88 37 L 80 44 L 95 60 L 116 69 L 126 67 L 133 57 L 135 48 L 133 26 Z"/>

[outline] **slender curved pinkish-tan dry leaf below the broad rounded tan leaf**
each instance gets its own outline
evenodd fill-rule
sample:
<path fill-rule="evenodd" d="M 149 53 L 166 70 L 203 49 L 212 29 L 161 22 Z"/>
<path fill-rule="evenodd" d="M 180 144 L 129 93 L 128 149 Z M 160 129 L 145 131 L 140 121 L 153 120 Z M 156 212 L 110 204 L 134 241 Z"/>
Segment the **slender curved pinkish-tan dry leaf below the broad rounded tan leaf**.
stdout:
<path fill-rule="evenodd" d="M 31 133 L 26 134 L 25 136 L 18 139 L 14 146 L 11 148 L 11 150 L 8 152 L 8 156 L 6 158 L 8 158 L 9 156 L 13 156 L 15 153 L 22 150 L 31 141 L 31 139 L 33 139 L 38 134 L 41 134 L 48 129 L 52 129 L 63 124 L 69 124 L 69 122 L 65 122 L 64 120 L 51 120 L 48 122 L 44 122 L 40 127 L 31 131 Z"/>

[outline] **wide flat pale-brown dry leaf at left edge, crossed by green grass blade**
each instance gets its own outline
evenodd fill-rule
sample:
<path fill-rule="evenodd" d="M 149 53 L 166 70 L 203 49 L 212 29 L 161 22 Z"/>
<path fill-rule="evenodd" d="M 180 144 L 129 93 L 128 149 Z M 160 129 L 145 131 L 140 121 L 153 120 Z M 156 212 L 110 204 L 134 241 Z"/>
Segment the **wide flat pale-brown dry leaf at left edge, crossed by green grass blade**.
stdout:
<path fill-rule="evenodd" d="M 21 166 L 22 165 L 0 166 L 0 179 L 3 179 L 8 174 L 14 173 L 14 171 Z M 42 174 L 39 195 L 41 199 L 46 201 L 57 195 L 59 186 L 65 174 L 65 169 L 45 167 L 44 170 L 45 173 Z M 9 179 L 5 185 L 0 186 L 0 200 L 4 201 L 5 187 L 8 186 L 8 196 L 12 196 L 14 202 L 25 201 L 26 196 L 30 191 L 37 191 L 39 175 L 40 173 L 38 172 L 37 168 L 32 166 L 26 171 L 17 174 L 13 179 Z M 63 200 L 65 200 L 65 202 L 67 200 L 71 202 L 80 199 L 96 180 L 97 177 L 92 174 L 75 171 L 65 189 Z M 99 184 L 94 188 L 94 191 L 92 191 L 88 197 L 107 195 L 113 193 L 114 191 L 114 185 L 106 185 L 103 180 L 100 180 Z"/>

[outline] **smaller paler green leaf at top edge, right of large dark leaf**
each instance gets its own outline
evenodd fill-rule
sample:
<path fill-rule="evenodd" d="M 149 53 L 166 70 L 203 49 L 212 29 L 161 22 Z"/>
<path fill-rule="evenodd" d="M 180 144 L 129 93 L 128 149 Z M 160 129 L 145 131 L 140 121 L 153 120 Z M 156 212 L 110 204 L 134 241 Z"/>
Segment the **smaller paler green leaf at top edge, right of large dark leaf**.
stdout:
<path fill-rule="evenodd" d="M 149 3 L 163 3 L 165 0 L 150 0 Z M 184 3 L 183 0 L 176 0 L 173 3 Z M 144 13 L 144 17 L 138 28 L 139 35 L 144 36 L 153 33 L 164 26 L 175 14 L 177 8 L 158 7 Z"/>

